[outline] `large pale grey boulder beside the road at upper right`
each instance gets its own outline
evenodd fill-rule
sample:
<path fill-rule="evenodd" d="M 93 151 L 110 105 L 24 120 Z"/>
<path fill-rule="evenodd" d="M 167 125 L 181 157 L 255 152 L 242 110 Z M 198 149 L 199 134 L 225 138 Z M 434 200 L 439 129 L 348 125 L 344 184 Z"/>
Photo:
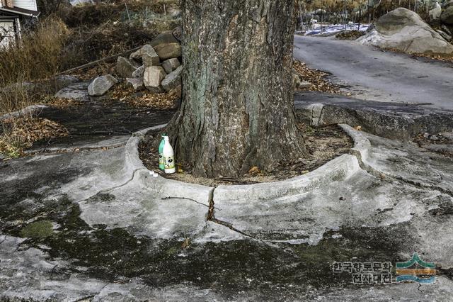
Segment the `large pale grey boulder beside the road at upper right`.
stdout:
<path fill-rule="evenodd" d="M 357 39 L 363 45 L 407 53 L 450 55 L 453 45 L 436 33 L 418 14 L 408 9 L 395 9 L 379 18 L 376 28 Z"/>

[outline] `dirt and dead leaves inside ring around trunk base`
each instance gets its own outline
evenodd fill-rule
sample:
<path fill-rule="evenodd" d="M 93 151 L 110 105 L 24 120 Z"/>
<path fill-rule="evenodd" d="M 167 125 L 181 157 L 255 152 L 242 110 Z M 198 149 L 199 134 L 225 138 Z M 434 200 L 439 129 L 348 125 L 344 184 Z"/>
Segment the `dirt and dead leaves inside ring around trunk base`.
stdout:
<path fill-rule="evenodd" d="M 309 150 L 311 157 L 299 158 L 296 162 L 285 166 L 280 165 L 271 172 L 263 172 L 260 171 L 259 167 L 251 167 L 247 174 L 238 178 L 208 179 L 194 177 L 191 174 L 191 167 L 187 164 L 182 164 L 183 172 L 165 174 L 159 170 L 159 152 L 157 152 L 157 146 L 154 146 L 155 138 L 164 133 L 164 130 L 148 133 L 144 142 L 139 145 L 139 153 L 144 165 L 163 177 L 193 184 L 218 186 L 221 184 L 256 184 L 297 177 L 320 167 L 335 157 L 348 153 L 352 147 L 352 140 L 338 125 L 325 125 L 313 128 L 300 124 L 299 128 L 304 133 L 306 148 Z M 176 158 L 176 160 L 178 159 Z"/>

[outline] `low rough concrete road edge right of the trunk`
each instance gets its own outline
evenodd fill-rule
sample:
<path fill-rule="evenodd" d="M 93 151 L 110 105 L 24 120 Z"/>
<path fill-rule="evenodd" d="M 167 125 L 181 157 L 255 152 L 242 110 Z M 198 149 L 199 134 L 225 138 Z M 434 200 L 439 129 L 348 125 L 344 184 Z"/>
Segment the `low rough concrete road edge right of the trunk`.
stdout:
<path fill-rule="evenodd" d="M 338 94 L 294 94 L 300 121 L 313 126 L 345 123 L 382 138 L 409 141 L 420 133 L 453 130 L 453 112 L 418 104 L 364 101 Z"/>

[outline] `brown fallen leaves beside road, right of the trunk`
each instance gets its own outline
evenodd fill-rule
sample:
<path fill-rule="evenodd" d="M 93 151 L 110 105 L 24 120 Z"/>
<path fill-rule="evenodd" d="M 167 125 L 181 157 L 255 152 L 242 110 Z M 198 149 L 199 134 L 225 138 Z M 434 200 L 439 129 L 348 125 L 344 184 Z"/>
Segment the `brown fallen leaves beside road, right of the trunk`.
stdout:
<path fill-rule="evenodd" d="M 311 69 L 306 66 L 304 62 L 299 60 L 294 60 L 293 68 L 299 74 L 300 79 L 306 82 L 310 82 L 311 86 L 308 88 L 301 89 L 303 91 L 323 91 L 331 94 L 341 93 L 338 86 L 328 82 L 325 79 L 328 74 L 326 72 L 321 72 L 318 69 Z"/>

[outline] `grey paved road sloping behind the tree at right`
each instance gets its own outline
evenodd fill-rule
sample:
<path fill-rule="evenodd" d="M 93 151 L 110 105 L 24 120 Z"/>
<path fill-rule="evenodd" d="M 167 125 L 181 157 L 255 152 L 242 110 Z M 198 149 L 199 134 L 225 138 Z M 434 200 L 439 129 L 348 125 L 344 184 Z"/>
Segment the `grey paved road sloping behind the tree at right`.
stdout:
<path fill-rule="evenodd" d="M 453 111 L 453 64 L 354 41 L 294 36 L 294 57 L 331 73 L 358 99 L 426 104 Z"/>

